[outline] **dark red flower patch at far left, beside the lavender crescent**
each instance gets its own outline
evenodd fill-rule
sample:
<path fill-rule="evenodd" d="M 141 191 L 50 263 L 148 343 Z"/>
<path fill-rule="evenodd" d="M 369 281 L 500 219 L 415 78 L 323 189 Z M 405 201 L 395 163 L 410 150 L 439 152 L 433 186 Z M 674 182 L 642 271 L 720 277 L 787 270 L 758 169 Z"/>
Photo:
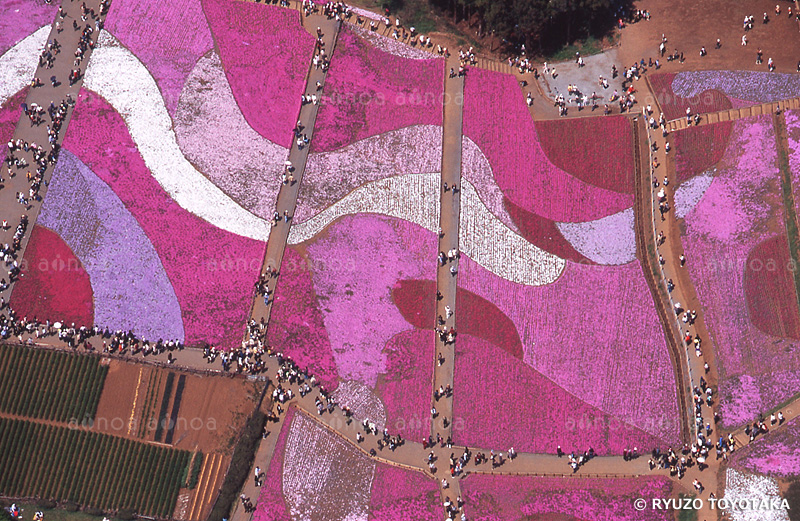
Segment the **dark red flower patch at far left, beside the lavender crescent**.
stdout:
<path fill-rule="evenodd" d="M 9 301 L 17 313 L 64 324 L 94 323 L 89 275 L 58 234 L 34 226 L 25 259 Z"/>

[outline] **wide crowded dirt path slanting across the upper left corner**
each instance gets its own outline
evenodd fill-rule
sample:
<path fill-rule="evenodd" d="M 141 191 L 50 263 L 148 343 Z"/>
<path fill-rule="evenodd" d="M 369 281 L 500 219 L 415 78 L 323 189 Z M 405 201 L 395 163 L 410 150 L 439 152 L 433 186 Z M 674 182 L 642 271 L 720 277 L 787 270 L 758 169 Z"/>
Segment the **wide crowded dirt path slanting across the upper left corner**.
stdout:
<path fill-rule="evenodd" d="M 25 104 L 29 108 L 36 104 L 44 109 L 41 124 L 34 125 L 30 118 L 23 112 L 20 115 L 19 122 L 17 123 L 12 137 L 12 140 L 21 139 L 30 144 L 38 144 L 42 147 L 42 151 L 45 154 L 49 154 L 60 147 L 67 132 L 70 119 L 72 118 L 74 106 L 68 104 L 61 129 L 55 133 L 55 140 L 53 142 L 50 141 L 48 132 L 50 127 L 54 126 L 54 122 L 47 113 L 48 108 L 51 107 L 51 105 L 58 107 L 62 101 L 66 100 L 77 101 L 78 92 L 83 85 L 83 74 L 86 72 L 86 67 L 89 64 L 92 47 L 86 49 L 83 54 L 83 59 L 77 67 L 77 70 L 80 71 L 79 79 L 72 83 L 69 81 L 70 72 L 76 69 L 73 62 L 76 59 L 75 52 L 78 50 L 82 32 L 84 28 L 87 27 L 93 31 L 89 38 L 91 39 L 92 45 L 94 45 L 97 43 L 97 38 L 100 34 L 100 31 L 96 29 L 97 26 L 95 23 L 98 22 L 102 24 L 105 22 L 105 14 L 99 14 L 101 12 L 100 0 L 86 0 L 83 5 L 85 5 L 87 9 L 92 9 L 95 13 L 98 13 L 97 18 L 92 19 L 91 17 L 87 17 L 87 21 L 83 21 L 81 19 L 81 4 L 78 2 L 64 2 L 62 4 L 61 9 L 65 16 L 62 18 L 60 14 L 56 15 L 56 19 L 53 22 L 48 36 L 48 42 L 57 40 L 60 45 L 60 51 L 55 54 L 53 66 L 50 68 L 48 68 L 46 64 L 42 64 L 40 60 L 40 65 L 35 72 L 35 78 L 41 81 L 42 85 L 29 88 L 28 95 L 25 97 Z M 77 24 L 78 30 L 73 29 L 73 22 Z M 60 32 L 56 24 L 63 24 Z M 51 82 L 51 77 L 56 78 L 56 83 Z M 5 143 L 3 143 L 2 146 L 5 147 Z M 8 221 L 7 227 L 0 228 L 0 243 L 11 244 L 17 225 L 20 224 L 23 215 L 27 216 L 28 224 L 26 232 L 22 236 L 22 240 L 15 254 L 15 260 L 21 262 L 25 256 L 25 249 L 28 246 L 28 241 L 30 240 L 30 231 L 33 229 L 34 224 L 36 224 L 36 219 L 42 208 L 42 201 L 47 195 L 47 184 L 50 182 L 50 178 L 53 175 L 56 162 L 53 160 L 46 163 L 46 169 L 42 174 L 42 182 L 38 190 L 37 200 L 36 197 L 29 197 L 32 181 L 28 179 L 28 175 L 35 177 L 38 166 L 34 159 L 33 148 L 28 152 L 16 150 L 13 154 L 9 154 L 9 157 L 11 155 L 18 159 L 24 159 L 28 163 L 28 166 L 24 168 L 18 168 L 16 166 L 9 168 L 6 163 L 3 163 L 2 167 L 0 167 L 0 219 Z M 28 198 L 25 204 L 21 204 L 17 200 L 17 194 L 19 193 Z M 11 292 L 14 289 L 14 280 L 9 275 L 9 268 L 10 266 L 4 264 L 2 270 L 0 270 L 2 271 L 0 278 L 8 281 L 7 288 L 1 289 L 2 286 L 0 286 L 0 298 L 2 298 L 5 303 L 9 302 Z"/>

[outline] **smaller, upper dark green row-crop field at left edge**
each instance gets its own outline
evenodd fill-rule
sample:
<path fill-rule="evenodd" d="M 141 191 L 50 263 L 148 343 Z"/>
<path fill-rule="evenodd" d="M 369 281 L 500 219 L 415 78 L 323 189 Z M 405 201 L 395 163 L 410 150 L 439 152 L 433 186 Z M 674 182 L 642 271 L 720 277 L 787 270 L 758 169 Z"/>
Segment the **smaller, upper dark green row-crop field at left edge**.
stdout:
<path fill-rule="evenodd" d="M 0 347 L 0 411 L 59 422 L 94 418 L 108 367 L 77 356 Z"/>

